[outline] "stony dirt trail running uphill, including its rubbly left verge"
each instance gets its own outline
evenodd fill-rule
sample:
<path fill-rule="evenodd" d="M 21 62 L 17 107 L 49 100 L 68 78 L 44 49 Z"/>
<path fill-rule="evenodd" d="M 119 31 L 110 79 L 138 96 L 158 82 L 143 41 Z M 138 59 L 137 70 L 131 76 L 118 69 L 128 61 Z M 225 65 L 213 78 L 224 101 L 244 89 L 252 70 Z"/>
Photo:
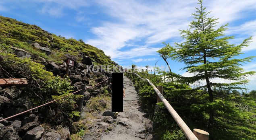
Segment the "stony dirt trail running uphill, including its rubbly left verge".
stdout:
<path fill-rule="evenodd" d="M 111 106 L 104 113 L 102 118 L 94 120 L 96 125 L 92 128 L 92 135 L 83 137 L 83 140 L 142 140 L 148 135 L 146 132 L 145 118 L 139 104 L 139 97 L 135 91 L 133 82 L 124 76 L 125 98 L 124 112 L 119 113 L 117 119 L 113 118 L 114 113 Z M 103 131 L 99 130 L 104 129 Z M 94 134 L 98 132 L 97 137 Z"/>

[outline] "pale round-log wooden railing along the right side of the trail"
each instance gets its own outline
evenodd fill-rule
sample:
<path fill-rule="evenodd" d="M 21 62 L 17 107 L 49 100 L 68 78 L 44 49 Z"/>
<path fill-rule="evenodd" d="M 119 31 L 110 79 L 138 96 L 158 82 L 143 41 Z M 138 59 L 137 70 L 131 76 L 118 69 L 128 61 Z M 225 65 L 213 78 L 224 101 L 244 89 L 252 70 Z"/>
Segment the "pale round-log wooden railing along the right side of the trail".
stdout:
<path fill-rule="evenodd" d="M 150 82 L 150 80 L 144 79 L 136 73 L 133 73 L 133 74 L 135 74 L 136 76 L 138 76 L 140 79 L 144 81 L 148 81 L 148 83 L 154 88 L 154 91 L 156 92 L 156 94 L 158 95 L 162 103 L 165 105 L 165 107 L 168 109 L 170 114 L 173 116 L 173 119 L 179 125 L 179 128 L 181 128 L 183 134 L 186 136 L 188 140 L 208 140 L 209 139 L 209 133 L 204 130 L 194 129 L 194 133 L 193 133 L 190 130 L 190 128 L 187 126 L 187 124 L 185 124 L 183 119 L 181 119 L 179 114 L 173 109 L 170 103 L 164 98 L 162 93 L 160 93 L 160 91 L 156 88 L 156 86 L 154 86 L 154 84 Z"/>

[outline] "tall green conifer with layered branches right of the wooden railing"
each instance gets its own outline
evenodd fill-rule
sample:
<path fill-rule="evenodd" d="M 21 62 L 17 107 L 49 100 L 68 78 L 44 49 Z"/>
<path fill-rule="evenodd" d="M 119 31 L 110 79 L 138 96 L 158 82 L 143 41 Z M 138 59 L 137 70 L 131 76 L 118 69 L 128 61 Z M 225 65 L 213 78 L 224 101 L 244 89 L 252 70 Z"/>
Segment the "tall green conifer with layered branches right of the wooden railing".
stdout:
<path fill-rule="evenodd" d="M 181 30 L 181 37 L 186 40 L 175 43 L 174 47 L 166 44 L 165 48 L 170 50 L 168 57 L 183 62 L 186 67 L 182 69 L 193 74 L 191 77 L 176 75 L 176 78 L 185 83 L 205 81 L 197 89 L 205 89 L 209 102 L 214 102 L 214 96 L 218 94 L 215 89 L 245 89 L 241 85 L 249 82 L 246 77 L 255 74 L 254 71 L 245 72 L 239 67 L 242 63 L 250 62 L 253 57 L 237 57 L 243 54 L 242 48 L 249 45 L 252 37 L 239 45 L 230 44 L 229 39 L 234 37 L 225 36 L 224 33 L 228 24 L 217 27 L 218 19 L 208 17 L 210 12 L 206 12 L 202 0 L 198 1 L 200 7 L 192 14 L 194 20 L 189 29 Z M 223 80 L 227 82 L 219 82 Z M 214 109 L 210 109 L 208 113 L 208 129 L 211 129 Z"/>

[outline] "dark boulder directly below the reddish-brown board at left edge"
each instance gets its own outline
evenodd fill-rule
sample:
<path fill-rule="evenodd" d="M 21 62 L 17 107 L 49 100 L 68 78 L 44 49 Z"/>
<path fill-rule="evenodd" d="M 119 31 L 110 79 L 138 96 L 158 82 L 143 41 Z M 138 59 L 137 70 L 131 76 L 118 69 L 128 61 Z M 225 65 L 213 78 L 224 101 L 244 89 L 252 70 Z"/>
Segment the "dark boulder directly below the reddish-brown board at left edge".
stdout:
<path fill-rule="evenodd" d="M 4 94 L 8 99 L 15 99 L 21 95 L 21 90 L 16 86 L 11 86 L 0 91 L 0 94 Z"/>

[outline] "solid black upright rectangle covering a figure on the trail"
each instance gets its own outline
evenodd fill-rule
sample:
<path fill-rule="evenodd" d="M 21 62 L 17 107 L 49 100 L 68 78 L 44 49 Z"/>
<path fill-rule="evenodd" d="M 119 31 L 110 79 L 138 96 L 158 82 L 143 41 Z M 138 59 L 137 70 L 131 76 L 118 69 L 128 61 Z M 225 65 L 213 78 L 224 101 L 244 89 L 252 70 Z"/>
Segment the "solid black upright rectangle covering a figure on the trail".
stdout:
<path fill-rule="evenodd" d="M 123 112 L 123 73 L 112 73 L 112 112 Z"/>

